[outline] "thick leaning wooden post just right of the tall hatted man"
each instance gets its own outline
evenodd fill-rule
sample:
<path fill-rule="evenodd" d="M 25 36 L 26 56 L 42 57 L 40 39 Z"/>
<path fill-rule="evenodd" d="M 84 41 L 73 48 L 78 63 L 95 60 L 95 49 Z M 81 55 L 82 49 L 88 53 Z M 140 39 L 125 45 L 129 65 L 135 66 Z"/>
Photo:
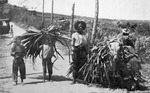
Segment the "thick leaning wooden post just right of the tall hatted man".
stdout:
<path fill-rule="evenodd" d="M 97 33 L 98 14 L 99 14 L 99 0 L 95 0 L 95 18 L 94 18 L 94 24 L 92 29 L 91 44 L 94 43 L 96 33 Z"/>

